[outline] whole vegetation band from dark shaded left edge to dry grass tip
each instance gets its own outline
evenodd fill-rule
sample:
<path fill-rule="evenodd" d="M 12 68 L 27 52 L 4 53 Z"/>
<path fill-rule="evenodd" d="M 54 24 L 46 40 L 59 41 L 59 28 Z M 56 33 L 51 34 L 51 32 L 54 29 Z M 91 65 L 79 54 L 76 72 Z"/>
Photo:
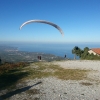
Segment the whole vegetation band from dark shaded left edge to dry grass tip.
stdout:
<path fill-rule="evenodd" d="M 4 64 L 0 66 L 0 89 L 13 88 L 17 83 L 27 79 L 49 76 L 62 80 L 83 80 L 88 72 L 88 70 L 64 69 L 52 62 L 35 62 L 30 65 Z"/>

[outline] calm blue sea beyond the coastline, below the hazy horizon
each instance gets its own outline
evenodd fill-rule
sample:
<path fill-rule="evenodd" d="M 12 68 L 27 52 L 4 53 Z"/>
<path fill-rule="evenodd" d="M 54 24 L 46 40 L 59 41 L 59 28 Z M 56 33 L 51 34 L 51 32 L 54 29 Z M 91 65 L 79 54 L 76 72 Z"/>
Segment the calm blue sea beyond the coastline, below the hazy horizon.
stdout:
<path fill-rule="evenodd" d="M 19 51 L 27 52 L 38 52 L 45 54 L 53 54 L 56 56 L 64 57 L 66 55 L 69 59 L 74 59 L 74 54 L 72 54 L 72 49 L 78 46 L 80 49 L 85 47 L 100 48 L 100 42 L 84 42 L 84 43 L 8 43 L 8 46 L 17 47 Z M 79 59 L 79 57 L 77 57 Z"/>

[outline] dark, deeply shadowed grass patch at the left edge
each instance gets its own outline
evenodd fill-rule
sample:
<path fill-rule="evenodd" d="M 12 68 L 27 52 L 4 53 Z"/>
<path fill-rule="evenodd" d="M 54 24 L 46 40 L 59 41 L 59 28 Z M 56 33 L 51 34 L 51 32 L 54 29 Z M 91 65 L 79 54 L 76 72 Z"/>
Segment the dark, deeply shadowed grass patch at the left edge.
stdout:
<path fill-rule="evenodd" d="M 27 76 L 28 72 L 21 72 L 19 69 L 10 70 L 0 75 L 0 89 L 13 87 L 20 79 Z"/>

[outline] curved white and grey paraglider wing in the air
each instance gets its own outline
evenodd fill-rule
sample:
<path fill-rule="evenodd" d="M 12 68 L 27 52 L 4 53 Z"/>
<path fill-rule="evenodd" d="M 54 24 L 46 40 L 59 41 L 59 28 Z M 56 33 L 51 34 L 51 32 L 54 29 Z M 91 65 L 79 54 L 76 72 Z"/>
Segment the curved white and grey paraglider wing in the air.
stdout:
<path fill-rule="evenodd" d="M 60 33 L 61 33 L 62 35 L 64 35 L 62 29 L 61 29 L 58 25 L 56 25 L 56 24 L 54 24 L 54 23 L 52 23 L 52 22 L 49 22 L 49 21 L 45 21 L 45 20 L 29 20 L 29 21 L 26 21 L 26 22 L 24 22 L 24 23 L 20 26 L 20 29 L 21 29 L 24 25 L 29 24 L 29 23 L 34 23 L 34 22 L 37 22 L 37 23 L 45 23 L 45 24 L 52 25 L 52 26 L 54 26 L 55 28 L 57 28 L 57 29 L 60 31 Z"/>

